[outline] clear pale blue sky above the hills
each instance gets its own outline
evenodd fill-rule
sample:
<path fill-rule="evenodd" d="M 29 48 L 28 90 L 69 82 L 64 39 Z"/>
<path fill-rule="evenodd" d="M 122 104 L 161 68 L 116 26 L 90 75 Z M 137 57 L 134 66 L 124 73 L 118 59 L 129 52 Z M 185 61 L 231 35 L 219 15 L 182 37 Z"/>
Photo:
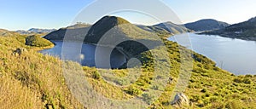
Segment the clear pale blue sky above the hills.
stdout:
<path fill-rule="evenodd" d="M 111 0 L 105 0 L 111 1 Z M 119 0 L 122 1 L 122 0 Z M 127 0 L 125 0 L 127 1 Z M 130 2 L 137 0 L 129 0 Z M 230 24 L 248 20 L 256 16 L 255 0 L 160 0 L 177 14 L 181 22 L 188 23 L 201 19 L 215 19 Z M 9 31 L 28 30 L 30 28 L 61 28 L 72 25 L 83 9 L 96 3 L 96 0 L 1 0 L 0 28 Z M 140 5 L 154 5 L 150 2 Z M 104 3 L 103 6 L 112 6 Z M 101 7 L 101 6 L 99 6 Z M 114 6 L 113 6 L 114 7 Z M 165 10 L 155 9 L 160 14 Z M 101 9 L 90 10 L 98 14 Z M 131 21 L 131 23 L 154 25 L 159 20 L 146 19 L 148 16 L 132 12 L 113 13 Z M 93 19 L 93 17 L 91 18 Z M 169 20 L 166 18 L 167 21 Z M 93 24 L 96 20 L 77 20 Z M 172 21 L 170 19 L 170 21 Z M 175 23 L 175 22 L 174 22 Z"/>

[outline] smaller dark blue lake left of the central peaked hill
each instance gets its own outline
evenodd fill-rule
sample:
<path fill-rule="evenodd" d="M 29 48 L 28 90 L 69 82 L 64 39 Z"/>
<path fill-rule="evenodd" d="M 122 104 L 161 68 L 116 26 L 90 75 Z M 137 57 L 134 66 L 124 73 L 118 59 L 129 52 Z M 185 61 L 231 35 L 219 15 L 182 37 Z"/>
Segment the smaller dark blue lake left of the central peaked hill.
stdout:
<path fill-rule="evenodd" d="M 113 48 L 99 46 L 96 48 L 96 45 L 75 42 L 65 42 L 65 44 L 61 41 L 52 42 L 55 43 L 54 48 L 39 52 L 61 59 L 65 58 L 65 60 L 73 60 L 82 66 L 96 66 L 98 68 L 118 68 L 126 62 L 125 54 L 113 50 Z M 96 49 L 98 50 L 96 51 Z"/>

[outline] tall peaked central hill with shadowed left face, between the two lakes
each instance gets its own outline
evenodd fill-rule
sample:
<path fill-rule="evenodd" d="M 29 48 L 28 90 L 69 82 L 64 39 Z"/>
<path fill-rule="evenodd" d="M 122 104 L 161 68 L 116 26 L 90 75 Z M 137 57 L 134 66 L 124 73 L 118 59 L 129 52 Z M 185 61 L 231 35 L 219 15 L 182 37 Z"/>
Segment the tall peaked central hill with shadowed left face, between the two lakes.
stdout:
<path fill-rule="evenodd" d="M 154 32 L 144 31 L 116 16 L 102 17 L 90 27 L 84 38 L 84 43 L 115 47 L 115 50 L 125 53 L 128 60 L 148 50 L 145 45 L 137 42 L 151 43 L 154 46 L 160 44 L 160 38 Z"/>

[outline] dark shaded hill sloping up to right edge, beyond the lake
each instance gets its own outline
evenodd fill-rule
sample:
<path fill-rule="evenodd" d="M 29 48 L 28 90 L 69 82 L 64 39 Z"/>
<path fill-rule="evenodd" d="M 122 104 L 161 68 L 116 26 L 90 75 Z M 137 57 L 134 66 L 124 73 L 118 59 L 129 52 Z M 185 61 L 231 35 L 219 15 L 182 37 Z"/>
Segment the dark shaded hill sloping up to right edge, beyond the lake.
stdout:
<path fill-rule="evenodd" d="M 238 24 L 227 26 L 224 29 L 204 32 L 204 34 L 256 41 L 256 17 Z"/>

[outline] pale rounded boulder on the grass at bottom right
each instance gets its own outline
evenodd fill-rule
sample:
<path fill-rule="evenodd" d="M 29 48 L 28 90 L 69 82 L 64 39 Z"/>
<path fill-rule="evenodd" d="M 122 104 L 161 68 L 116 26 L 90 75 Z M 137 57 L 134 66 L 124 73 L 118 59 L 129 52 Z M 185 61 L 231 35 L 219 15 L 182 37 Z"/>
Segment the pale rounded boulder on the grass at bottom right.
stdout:
<path fill-rule="evenodd" d="M 183 93 L 177 93 L 177 95 L 174 97 L 174 100 L 172 101 L 172 106 L 189 106 L 189 99 L 187 95 L 184 95 Z"/>

